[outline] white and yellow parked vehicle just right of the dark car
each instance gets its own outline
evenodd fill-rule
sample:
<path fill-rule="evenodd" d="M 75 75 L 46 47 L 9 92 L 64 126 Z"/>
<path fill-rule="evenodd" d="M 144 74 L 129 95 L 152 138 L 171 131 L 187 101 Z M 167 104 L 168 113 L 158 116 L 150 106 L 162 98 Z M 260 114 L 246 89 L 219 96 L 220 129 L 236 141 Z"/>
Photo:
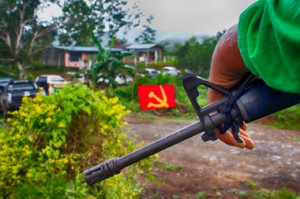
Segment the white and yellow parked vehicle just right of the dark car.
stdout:
<path fill-rule="evenodd" d="M 50 88 L 56 88 L 59 91 L 62 87 L 68 84 L 68 81 L 65 78 L 59 75 L 40 75 L 35 79 L 38 87 L 43 87 L 46 95 L 49 95 L 52 91 Z"/>

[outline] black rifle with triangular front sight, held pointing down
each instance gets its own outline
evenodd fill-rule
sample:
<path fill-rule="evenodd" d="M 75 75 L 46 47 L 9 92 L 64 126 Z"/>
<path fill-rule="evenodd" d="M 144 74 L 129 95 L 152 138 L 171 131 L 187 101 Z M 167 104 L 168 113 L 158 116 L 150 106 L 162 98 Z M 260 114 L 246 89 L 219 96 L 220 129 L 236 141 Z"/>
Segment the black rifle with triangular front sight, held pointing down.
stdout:
<path fill-rule="evenodd" d="M 188 74 L 183 78 L 183 86 L 199 121 L 127 155 L 112 158 L 85 170 L 83 172 L 84 178 L 89 185 L 112 177 L 120 173 L 125 167 L 199 133 L 204 132 L 201 136 L 203 141 L 214 141 L 217 139 L 214 130 L 224 126 L 224 124 L 227 125 L 227 129 L 228 127 L 234 128 L 232 127 L 233 124 L 240 125 L 243 121 L 250 123 L 300 103 L 300 94 L 272 89 L 253 75 L 246 75 L 231 89 L 224 89 L 199 76 Z M 199 96 L 197 88 L 199 86 L 214 89 L 222 93 L 224 97 L 202 108 L 197 102 Z M 237 132 L 234 133 L 234 137 L 240 141 Z"/>

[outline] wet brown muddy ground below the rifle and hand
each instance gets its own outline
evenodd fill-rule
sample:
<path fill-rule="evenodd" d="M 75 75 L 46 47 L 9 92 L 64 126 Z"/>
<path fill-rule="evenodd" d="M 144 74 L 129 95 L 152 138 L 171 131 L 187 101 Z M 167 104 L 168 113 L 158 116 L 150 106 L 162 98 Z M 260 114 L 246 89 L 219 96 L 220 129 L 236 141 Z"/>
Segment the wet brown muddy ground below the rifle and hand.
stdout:
<path fill-rule="evenodd" d="M 129 136 L 145 144 L 195 122 L 126 120 Z M 196 135 L 161 151 L 153 171 L 157 179 L 142 198 L 200 198 L 201 192 L 206 198 L 239 198 L 245 191 L 262 188 L 288 188 L 300 195 L 300 130 L 264 128 L 256 122 L 249 124 L 248 133 L 255 140 L 253 150 L 220 141 L 204 143 Z"/>

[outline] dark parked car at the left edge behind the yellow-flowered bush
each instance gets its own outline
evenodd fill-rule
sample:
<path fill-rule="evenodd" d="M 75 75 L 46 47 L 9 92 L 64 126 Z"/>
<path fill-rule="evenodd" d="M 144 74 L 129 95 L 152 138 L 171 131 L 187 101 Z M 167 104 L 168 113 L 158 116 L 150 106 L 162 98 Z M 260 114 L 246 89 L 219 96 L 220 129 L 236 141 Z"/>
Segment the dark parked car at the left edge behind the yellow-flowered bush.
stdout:
<path fill-rule="evenodd" d="M 38 92 L 37 84 L 27 80 L 10 81 L 5 86 L 0 86 L 0 108 L 3 116 L 7 117 L 8 111 L 19 109 L 24 96 L 35 97 Z"/>

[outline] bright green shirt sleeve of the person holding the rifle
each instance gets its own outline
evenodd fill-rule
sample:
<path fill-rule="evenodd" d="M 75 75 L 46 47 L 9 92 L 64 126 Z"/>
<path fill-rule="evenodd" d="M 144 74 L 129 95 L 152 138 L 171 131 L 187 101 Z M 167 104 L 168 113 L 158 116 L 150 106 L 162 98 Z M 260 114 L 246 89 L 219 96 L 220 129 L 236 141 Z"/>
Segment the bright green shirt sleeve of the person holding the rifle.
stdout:
<path fill-rule="evenodd" d="M 272 88 L 300 93 L 300 0 L 259 0 L 241 15 L 246 66 Z"/>

